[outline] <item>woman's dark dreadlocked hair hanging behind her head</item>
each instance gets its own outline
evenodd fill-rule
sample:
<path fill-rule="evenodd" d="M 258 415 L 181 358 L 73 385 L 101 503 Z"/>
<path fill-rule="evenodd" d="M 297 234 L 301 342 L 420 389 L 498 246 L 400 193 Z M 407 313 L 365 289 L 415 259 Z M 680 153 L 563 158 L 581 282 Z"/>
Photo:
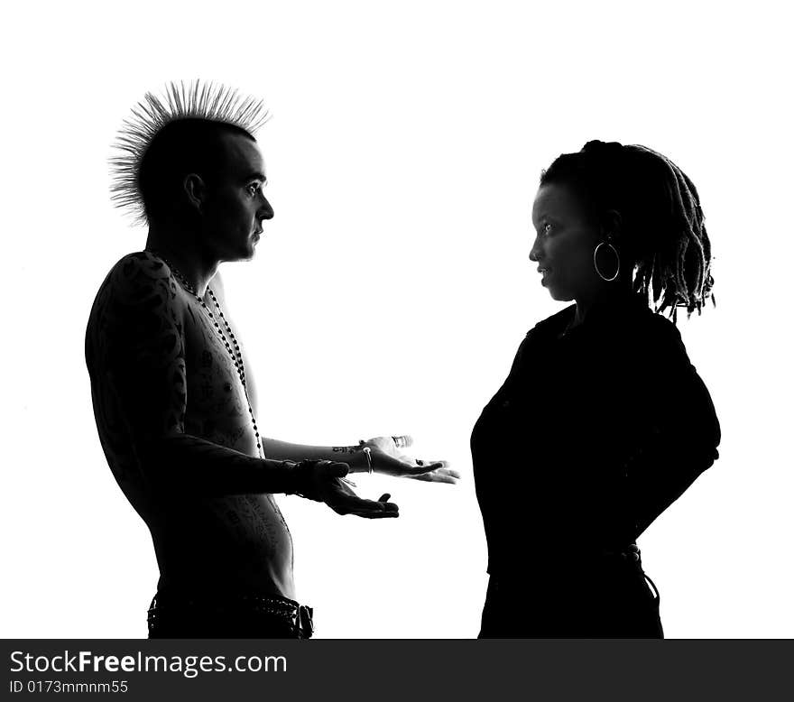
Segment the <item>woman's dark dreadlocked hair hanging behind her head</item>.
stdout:
<path fill-rule="evenodd" d="M 684 171 L 646 146 L 587 142 L 563 153 L 540 175 L 540 184 L 563 183 L 580 195 L 597 222 L 609 210 L 621 217 L 621 255 L 633 264 L 632 291 L 656 312 L 687 317 L 711 290 L 711 243 L 697 189 Z"/>

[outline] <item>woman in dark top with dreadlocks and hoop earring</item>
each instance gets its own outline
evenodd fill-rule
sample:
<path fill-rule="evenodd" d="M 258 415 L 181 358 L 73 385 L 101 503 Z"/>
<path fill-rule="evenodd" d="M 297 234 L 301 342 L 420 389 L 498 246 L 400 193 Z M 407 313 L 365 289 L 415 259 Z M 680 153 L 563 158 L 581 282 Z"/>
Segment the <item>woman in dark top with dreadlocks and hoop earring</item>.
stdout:
<path fill-rule="evenodd" d="M 541 284 L 575 304 L 530 330 L 472 434 L 480 637 L 661 637 L 636 540 L 720 440 L 675 326 L 714 282 L 697 190 L 660 153 L 589 142 L 543 171 L 532 224 Z"/>

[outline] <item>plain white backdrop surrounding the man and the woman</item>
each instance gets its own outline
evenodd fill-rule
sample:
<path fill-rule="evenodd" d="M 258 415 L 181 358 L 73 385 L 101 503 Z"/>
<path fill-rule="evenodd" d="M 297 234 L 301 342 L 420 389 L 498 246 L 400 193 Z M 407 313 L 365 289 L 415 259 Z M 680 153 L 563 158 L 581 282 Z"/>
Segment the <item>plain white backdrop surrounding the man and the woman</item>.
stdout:
<path fill-rule="evenodd" d="M 146 90 L 203 78 L 274 115 L 260 143 L 276 216 L 254 262 L 224 269 L 261 426 L 308 443 L 411 432 L 417 455 L 464 476 L 363 478 L 363 494 L 400 504 L 388 522 L 282 499 L 318 636 L 477 633 L 486 554 L 468 439 L 525 331 L 561 308 L 527 259 L 540 169 L 594 138 L 678 162 L 716 254 L 716 309 L 679 327 L 722 422 L 721 457 L 641 540 L 666 632 L 791 636 L 779 5 L 6 10 L 2 635 L 145 636 L 151 540 L 102 455 L 82 345 L 98 285 L 145 241 L 109 203 L 115 130 Z M 508 474 L 503 487 L 505 509 L 522 509 Z"/>

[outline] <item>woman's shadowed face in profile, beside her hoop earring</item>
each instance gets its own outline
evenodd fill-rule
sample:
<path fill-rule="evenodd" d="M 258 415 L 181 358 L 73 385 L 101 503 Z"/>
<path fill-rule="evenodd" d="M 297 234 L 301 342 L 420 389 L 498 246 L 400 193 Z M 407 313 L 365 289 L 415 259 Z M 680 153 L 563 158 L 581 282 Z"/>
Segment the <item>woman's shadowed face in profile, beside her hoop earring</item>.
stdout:
<path fill-rule="evenodd" d="M 537 235 L 530 260 L 554 300 L 577 300 L 600 287 L 593 267 L 598 229 L 586 217 L 576 191 L 561 183 L 541 185 L 532 206 Z"/>

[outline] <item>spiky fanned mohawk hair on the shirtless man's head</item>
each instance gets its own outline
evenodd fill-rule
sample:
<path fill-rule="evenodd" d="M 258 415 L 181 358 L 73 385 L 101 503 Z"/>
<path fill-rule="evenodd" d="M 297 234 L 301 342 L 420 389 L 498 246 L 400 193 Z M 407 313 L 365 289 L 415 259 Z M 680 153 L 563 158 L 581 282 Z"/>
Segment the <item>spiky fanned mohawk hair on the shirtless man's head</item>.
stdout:
<path fill-rule="evenodd" d="M 212 180 L 224 134 L 254 133 L 270 118 L 263 100 L 200 80 L 166 84 L 133 107 L 116 134 L 110 158 L 111 200 L 139 223 L 172 207 L 185 175 Z"/>

